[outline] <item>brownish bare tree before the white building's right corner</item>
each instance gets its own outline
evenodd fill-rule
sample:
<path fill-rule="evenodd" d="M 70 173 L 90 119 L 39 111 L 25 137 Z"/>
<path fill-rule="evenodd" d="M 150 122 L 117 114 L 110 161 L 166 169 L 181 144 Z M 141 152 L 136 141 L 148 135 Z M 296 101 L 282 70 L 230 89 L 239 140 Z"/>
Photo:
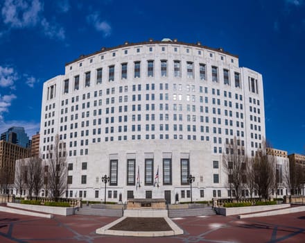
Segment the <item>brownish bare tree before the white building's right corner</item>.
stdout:
<path fill-rule="evenodd" d="M 254 182 L 259 197 L 268 199 L 275 185 L 275 157 L 266 154 L 264 145 L 254 156 Z"/>

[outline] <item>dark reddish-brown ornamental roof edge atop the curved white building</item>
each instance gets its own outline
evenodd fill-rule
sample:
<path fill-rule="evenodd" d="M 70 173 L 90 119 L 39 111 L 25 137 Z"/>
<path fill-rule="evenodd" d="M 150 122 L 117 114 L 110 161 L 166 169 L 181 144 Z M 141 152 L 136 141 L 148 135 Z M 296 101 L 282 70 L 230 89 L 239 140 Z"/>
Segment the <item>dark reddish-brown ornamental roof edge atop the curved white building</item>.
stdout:
<path fill-rule="evenodd" d="M 95 51 L 94 53 L 87 54 L 87 55 L 81 55 L 79 58 L 76 58 L 75 60 L 73 60 L 71 62 L 67 62 L 65 66 L 70 65 L 73 62 L 78 62 L 79 60 L 89 58 L 89 56 L 97 55 L 99 53 L 105 53 L 106 51 L 121 49 L 123 47 L 139 46 L 141 44 L 179 44 L 179 45 L 184 45 L 184 46 L 189 46 L 189 47 L 199 47 L 199 48 L 202 48 L 202 49 L 208 49 L 208 50 L 211 50 L 211 51 L 216 51 L 218 53 L 223 53 L 223 54 L 226 54 L 226 55 L 229 55 L 229 56 L 233 56 L 234 58 L 238 58 L 238 55 L 234 55 L 232 53 L 224 51 L 223 48 L 221 48 L 221 47 L 216 49 L 216 48 L 212 48 L 212 47 L 202 46 L 201 42 L 197 42 L 196 44 L 192 44 L 192 43 L 186 43 L 186 42 L 178 42 L 177 39 L 174 39 L 173 41 L 159 41 L 159 40 L 150 39 L 149 41 L 137 42 L 137 43 L 125 42 L 124 44 L 120 44 L 119 46 L 116 46 L 116 47 L 107 47 L 107 48 L 102 47 L 100 51 Z"/>

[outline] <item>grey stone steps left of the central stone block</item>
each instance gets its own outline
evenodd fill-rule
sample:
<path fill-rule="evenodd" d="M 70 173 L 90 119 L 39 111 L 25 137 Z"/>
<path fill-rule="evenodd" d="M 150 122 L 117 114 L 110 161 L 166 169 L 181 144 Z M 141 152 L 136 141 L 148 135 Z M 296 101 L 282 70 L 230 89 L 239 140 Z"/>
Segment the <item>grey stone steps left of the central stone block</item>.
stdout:
<path fill-rule="evenodd" d="M 76 215 L 94 215 L 105 217 L 122 217 L 123 210 L 121 208 L 92 208 L 91 206 L 82 206 L 79 210 L 76 210 Z"/>

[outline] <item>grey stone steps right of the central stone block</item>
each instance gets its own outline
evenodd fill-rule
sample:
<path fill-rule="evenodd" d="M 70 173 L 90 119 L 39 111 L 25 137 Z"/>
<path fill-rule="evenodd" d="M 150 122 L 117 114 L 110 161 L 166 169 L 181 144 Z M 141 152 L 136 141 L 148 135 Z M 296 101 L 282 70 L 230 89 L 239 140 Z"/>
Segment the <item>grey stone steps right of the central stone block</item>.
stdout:
<path fill-rule="evenodd" d="M 216 215 L 216 212 L 210 206 L 202 208 L 173 208 L 168 210 L 168 217 L 170 218 L 203 215 Z"/>

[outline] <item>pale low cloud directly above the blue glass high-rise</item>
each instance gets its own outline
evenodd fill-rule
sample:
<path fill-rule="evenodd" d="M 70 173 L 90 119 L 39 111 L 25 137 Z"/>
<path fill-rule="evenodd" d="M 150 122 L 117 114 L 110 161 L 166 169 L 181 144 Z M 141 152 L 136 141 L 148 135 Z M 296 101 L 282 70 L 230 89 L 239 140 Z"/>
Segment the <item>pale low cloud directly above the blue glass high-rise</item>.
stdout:
<path fill-rule="evenodd" d="M 40 131 L 40 123 L 35 121 L 1 121 L 0 119 L 0 133 L 7 131 L 8 128 L 12 126 L 23 126 L 29 138 L 31 138 L 32 135 L 35 135 L 38 131 Z"/>

